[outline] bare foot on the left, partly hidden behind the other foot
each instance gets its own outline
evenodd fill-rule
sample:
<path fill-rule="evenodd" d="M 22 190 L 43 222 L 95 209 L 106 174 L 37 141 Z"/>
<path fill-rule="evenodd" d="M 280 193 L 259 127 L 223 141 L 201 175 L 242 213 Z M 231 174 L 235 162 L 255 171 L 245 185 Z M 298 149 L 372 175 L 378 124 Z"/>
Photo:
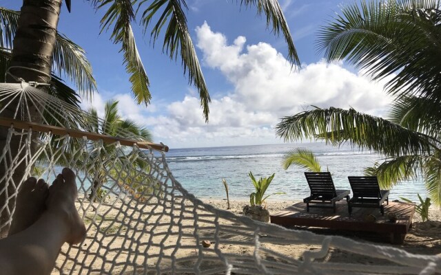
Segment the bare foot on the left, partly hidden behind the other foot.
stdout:
<path fill-rule="evenodd" d="M 8 235 L 16 234 L 30 227 L 45 210 L 45 199 L 48 197 L 48 184 L 43 179 L 37 181 L 30 177 L 21 185 L 12 223 Z"/>

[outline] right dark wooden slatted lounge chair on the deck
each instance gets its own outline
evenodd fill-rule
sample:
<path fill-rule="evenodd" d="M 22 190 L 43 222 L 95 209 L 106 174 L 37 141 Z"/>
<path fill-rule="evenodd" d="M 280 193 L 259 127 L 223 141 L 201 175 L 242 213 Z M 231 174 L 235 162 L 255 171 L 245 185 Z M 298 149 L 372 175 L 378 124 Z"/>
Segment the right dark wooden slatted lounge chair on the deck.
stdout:
<path fill-rule="evenodd" d="M 349 214 L 353 207 L 380 208 L 384 215 L 384 200 L 389 204 L 389 190 L 380 190 L 377 177 L 347 177 L 352 188 L 352 199 L 347 202 Z"/>

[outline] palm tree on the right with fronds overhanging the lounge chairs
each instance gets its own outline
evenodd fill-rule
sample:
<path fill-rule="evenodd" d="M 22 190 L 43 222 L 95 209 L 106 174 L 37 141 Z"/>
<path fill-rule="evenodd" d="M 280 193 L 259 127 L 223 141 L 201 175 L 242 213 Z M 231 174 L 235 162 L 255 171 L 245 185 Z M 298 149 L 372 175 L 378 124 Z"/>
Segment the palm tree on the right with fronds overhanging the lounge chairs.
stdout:
<path fill-rule="evenodd" d="M 384 162 L 367 168 L 384 188 L 422 175 L 431 199 L 441 205 L 441 10 L 439 1 L 370 1 L 342 8 L 322 28 L 318 46 L 328 61 L 345 58 L 395 96 L 389 117 L 354 109 L 314 107 L 283 118 L 285 140 L 305 137 L 349 142 L 377 151 Z"/>

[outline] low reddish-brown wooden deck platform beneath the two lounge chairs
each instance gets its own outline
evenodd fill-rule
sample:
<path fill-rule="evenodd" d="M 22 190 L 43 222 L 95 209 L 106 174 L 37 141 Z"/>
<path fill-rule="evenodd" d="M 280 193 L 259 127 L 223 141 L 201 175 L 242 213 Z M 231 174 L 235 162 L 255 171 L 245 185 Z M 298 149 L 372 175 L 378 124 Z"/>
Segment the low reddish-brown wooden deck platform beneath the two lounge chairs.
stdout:
<path fill-rule="evenodd" d="M 402 243 L 411 227 L 414 212 L 414 204 L 393 201 L 384 206 L 384 216 L 376 208 L 353 208 L 349 215 L 346 201 L 337 203 L 336 213 L 331 208 L 310 208 L 307 212 L 306 203 L 299 202 L 270 217 L 271 223 L 278 225 L 378 232 L 388 234 L 392 243 Z M 389 213 L 396 214 L 398 220 L 389 221 Z M 369 214 L 375 216 L 376 221 L 367 221 Z"/>

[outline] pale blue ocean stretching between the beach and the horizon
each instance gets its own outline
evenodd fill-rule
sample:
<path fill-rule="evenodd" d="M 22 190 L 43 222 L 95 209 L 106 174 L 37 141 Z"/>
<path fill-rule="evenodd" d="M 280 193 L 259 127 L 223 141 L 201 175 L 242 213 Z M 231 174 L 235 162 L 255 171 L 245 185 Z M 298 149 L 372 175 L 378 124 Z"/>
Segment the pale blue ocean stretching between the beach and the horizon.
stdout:
<path fill-rule="evenodd" d="M 302 200 L 309 196 L 309 188 L 302 168 L 291 165 L 283 169 L 283 155 L 294 148 L 307 148 L 318 157 L 322 170 L 331 172 L 337 189 L 350 189 L 348 176 L 363 175 L 365 167 L 380 161 L 377 153 L 359 151 L 345 145 L 340 148 L 320 142 L 299 144 L 271 144 L 253 146 L 227 146 L 210 148 L 171 148 L 166 153 L 167 164 L 177 179 L 189 192 L 201 199 L 225 199 L 222 179 L 226 179 L 230 199 L 249 199 L 254 191 L 248 173 L 254 177 L 269 177 L 276 173 L 265 194 L 274 195 L 267 201 Z M 418 201 L 417 193 L 425 198 L 426 190 L 421 179 L 407 181 L 391 189 L 389 199 L 405 197 Z"/>

